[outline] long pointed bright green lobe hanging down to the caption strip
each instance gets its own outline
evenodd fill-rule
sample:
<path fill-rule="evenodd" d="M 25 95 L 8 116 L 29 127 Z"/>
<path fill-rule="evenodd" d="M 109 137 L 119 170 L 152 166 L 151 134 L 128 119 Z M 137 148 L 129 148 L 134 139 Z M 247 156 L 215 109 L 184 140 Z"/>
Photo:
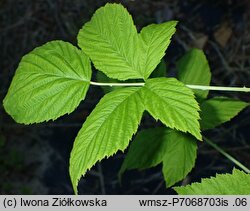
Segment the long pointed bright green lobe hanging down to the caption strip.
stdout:
<path fill-rule="evenodd" d="M 74 142 L 70 177 L 77 184 L 97 161 L 124 150 L 137 131 L 144 106 L 141 88 L 124 88 L 106 94 L 88 116 Z"/>

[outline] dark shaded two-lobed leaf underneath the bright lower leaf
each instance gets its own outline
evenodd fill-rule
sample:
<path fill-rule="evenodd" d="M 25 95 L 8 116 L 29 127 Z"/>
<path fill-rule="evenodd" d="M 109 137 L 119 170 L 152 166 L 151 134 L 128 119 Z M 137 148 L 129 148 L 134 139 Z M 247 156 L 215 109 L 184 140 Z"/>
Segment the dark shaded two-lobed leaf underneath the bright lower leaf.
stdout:
<path fill-rule="evenodd" d="M 140 131 L 129 147 L 119 177 L 126 170 L 145 169 L 163 162 L 166 186 L 185 178 L 195 164 L 197 145 L 194 137 L 167 128 Z"/>

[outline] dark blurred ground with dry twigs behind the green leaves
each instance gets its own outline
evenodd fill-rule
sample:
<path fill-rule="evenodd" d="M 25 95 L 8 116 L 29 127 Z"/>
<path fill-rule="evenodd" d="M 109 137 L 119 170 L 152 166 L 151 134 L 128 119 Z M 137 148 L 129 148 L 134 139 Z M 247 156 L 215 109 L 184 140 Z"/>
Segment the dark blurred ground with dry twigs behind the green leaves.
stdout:
<path fill-rule="evenodd" d="M 107 2 L 121 2 L 140 30 L 150 23 L 178 20 L 167 50 L 169 69 L 186 51 L 203 49 L 212 72 L 212 85 L 250 86 L 250 1 L 234 0 L 0 0 L 0 100 L 23 55 L 51 40 L 76 45 L 76 35 L 94 11 Z M 174 71 L 174 69 L 173 69 Z M 246 93 L 210 92 L 250 102 Z M 0 193 L 72 194 L 69 155 L 82 123 L 103 96 L 91 87 L 70 115 L 35 125 L 21 125 L 0 105 Z M 210 139 L 250 167 L 250 108 L 230 123 L 207 133 Z M 147 120 L 147 121 L 146 121 Z M 144 119 L 140 129 L 155 126 Z M 126 153 L 126 152 L 125 152 Z M 165 188 L 161 166 L 117 173 L 125 154 L 118 153 L 93 167 L 79 184 L 80 194 L 174 194 Z M 233 163 L 206 143 L 199 144 L 196 166 L 185 181 L 231 172 Z"/>

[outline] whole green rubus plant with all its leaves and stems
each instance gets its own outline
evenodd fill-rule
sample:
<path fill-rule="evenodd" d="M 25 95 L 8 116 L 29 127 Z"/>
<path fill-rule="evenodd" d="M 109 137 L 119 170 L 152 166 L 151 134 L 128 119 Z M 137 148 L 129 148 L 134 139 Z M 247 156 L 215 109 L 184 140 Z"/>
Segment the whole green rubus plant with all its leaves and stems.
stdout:
<path fill-rule="evenodd" d="M 197 141 L 205 139 L 213 145 L 202 137 L 201 130 L 229 121 L 249 105 L 227 97 L 207 99 L 209 90 L 250 89 L 209 86 L 211 73 L 201 50 L 193 49 L 178 60 L 178 80 L 165 77 L 157 65 L 176 24 L 151 24 L 138 33 L 127 10 L 121 4 L 108 3 L 79 31 L 80 49 L 68 42 L 51 41 L 22 58 L 3 101 L 6 112 L 18 123 L 55 120 L 73 112 L 90 85 L 111 87 L 75 139 L 69 166 L 75 193 L 81 176 L 96 162 L 127 148 L 145 111 L 165 127 L 136 135 L 119 176 L 127 169 L 163 163 L 166 186 L 170 187 L 194 167 Z M 108 82 L 91 80 L 91 62 L 103 74 L 98 78 Z M 249 173 L 242 164 L 235 163 Z M 232 175 L 211 180 L 175 190 L 180 194 L 213 194 L 213 188 L 217 194 L 250 193 L 249 174 L 243 171 L 234 170 Z M 218 183 L 230 181 L 234 181 L 234 192 L 228 191 L 227 185 L 220 185 L 218 190 Z"/>

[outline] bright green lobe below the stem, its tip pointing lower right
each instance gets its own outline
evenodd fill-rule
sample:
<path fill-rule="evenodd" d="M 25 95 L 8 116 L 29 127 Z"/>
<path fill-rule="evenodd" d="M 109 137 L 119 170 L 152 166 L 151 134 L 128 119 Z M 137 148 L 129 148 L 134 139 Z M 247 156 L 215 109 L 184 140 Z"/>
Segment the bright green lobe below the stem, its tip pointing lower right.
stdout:
<path fill-rule="evenodd" d="M 146 110 L 166 126 L 201 140 L 199 105 L 193 92 L 175 78 L 148 79 L 143 87 Z"/>

